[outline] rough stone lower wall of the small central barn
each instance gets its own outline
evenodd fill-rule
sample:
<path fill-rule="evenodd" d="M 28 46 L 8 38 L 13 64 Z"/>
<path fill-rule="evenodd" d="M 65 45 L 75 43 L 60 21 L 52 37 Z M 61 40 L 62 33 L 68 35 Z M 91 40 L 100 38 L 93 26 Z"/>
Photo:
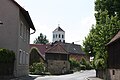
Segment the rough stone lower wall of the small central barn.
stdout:
<path fill-rule="evenodd" d="M 70 70 L 69 61 L 48 60 L 47 63 L 47 69 L 51 74 L 64 74 Z"/>

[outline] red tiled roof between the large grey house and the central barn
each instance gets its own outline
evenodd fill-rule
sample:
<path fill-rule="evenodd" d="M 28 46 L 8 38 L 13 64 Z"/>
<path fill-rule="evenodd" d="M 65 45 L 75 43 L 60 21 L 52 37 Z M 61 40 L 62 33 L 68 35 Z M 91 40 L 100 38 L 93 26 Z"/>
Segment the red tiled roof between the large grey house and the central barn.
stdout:
<path fill-rule="evenodd" d="M 45 51 L 49 49 L 51 46 L 50 44 L 30 44 L 30 49 L 36 48 L 39 50 L 39 54 L 45 58 Z"/>

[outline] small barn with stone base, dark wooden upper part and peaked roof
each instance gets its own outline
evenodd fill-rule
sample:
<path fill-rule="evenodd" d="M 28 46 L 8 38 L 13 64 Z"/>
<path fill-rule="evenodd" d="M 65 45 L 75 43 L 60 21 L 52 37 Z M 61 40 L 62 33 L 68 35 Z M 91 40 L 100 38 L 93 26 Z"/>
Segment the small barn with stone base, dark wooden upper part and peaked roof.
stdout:
<path fill-rule="evenodd" d="M 45 59 L 51 74 L 63 74 L 70 70 L 69 53 L 59 43 L 45 52 Z"/>

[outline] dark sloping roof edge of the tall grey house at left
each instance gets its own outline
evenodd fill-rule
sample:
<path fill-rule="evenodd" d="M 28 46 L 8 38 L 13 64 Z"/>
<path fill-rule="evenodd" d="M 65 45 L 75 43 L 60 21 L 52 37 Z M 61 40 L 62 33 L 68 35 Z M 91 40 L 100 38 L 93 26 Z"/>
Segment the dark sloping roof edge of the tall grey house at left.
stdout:
<path fill-rule="evenodd" d="M 16 6 L 19 7 L 21 13 L 23 14 L 23 16 L 26 19 L 26 21 L 27 21 L 28 25 L 30 26 L 30 28 L 33 29 L 33 30 L 36 30 L 34 25 L 33 25 L 32 20 L 30 18 L 30 15 L 29 15 L 28 11 L 26 11 L 23 7 L 21 7 L 15 0 L 10 0 L 10 1 L 12 1 Z"/>

